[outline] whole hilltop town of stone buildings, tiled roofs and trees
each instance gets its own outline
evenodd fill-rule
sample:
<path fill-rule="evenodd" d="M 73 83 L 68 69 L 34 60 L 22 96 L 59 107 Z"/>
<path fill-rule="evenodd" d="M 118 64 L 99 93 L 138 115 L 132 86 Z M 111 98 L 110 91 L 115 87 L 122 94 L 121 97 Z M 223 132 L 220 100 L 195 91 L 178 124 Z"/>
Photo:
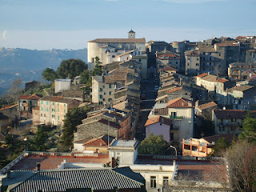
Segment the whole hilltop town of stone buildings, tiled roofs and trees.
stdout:
<path fill-rule="evenodd" d="M 2 96 L 0 191 L 256 190 L 256 36 L 130 30 L 86 58 Z"/>

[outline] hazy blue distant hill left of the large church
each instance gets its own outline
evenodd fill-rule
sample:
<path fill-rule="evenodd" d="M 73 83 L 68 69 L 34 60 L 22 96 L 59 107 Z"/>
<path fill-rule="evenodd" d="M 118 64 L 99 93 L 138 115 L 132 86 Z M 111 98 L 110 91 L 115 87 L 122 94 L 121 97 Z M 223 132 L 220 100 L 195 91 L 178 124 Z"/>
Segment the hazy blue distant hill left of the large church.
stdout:
<path fill-rule="evenodd" d="M 62 60 L 80 58 L 87 61 L 87 50 L 26 50 L 0 48 L 0 94 L 15 78 L 24 82 L 42 79 L 47 67 L 57 70 Z"/>

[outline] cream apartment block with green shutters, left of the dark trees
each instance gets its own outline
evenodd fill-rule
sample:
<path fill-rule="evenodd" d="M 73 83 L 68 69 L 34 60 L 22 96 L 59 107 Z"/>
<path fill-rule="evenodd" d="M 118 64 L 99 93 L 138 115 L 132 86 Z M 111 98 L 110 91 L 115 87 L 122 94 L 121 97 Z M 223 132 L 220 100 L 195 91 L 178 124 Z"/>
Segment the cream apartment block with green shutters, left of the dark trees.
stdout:
<path fill-rule="evenodd" d="M 40 123 L 54 126 L 62 126 L 66 113 L 71 108 L 78 106 L 80 102 L 76 99 L 45 96 L 38 100 Z"/>

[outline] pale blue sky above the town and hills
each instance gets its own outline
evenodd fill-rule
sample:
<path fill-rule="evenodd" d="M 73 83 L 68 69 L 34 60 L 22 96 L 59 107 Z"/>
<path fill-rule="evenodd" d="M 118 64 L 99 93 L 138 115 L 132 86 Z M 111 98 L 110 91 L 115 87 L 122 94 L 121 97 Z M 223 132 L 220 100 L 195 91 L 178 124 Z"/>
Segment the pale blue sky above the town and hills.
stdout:
<path fill-rule="evenodd" d="M 84 49 L 95 38 L 256 35 L 255 0 L 0 0 L 0 47 Z"/>

